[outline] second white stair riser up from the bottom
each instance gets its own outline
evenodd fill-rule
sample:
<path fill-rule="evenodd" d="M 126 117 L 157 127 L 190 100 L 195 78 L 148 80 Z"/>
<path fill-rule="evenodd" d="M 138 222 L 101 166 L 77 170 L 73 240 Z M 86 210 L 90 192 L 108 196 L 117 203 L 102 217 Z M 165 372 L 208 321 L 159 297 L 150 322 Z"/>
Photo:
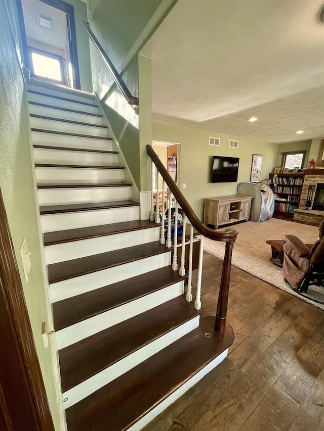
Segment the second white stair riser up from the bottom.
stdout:
<path fill-rule="evenodd" d="M 62 398 L 67 401 L 64 403 L 64 407 L 67 409 L 73 404 L 83 400 L 90 394 L 93 394 L 98 389 L 110 383 L 110 381 L 118 378 L 120 375 L 126 373 L 130 369 L 136 367 L 141 362 L 165 349 L 170 344 L 176 342 L 180 338 L 184 337 L 187 333 L 199 326 L 199 316 L 194 317 L 181 326 L 173 329 L 172 331 L 164 334 L 164 336 L 152 341 L 148 345 L 142 347 L 136 352 L 128 355 L 126 358 L 121 359 L 105 370 L 99 372 L 98 374 L 90 377 L 74 388 L 64 392 Z"/>

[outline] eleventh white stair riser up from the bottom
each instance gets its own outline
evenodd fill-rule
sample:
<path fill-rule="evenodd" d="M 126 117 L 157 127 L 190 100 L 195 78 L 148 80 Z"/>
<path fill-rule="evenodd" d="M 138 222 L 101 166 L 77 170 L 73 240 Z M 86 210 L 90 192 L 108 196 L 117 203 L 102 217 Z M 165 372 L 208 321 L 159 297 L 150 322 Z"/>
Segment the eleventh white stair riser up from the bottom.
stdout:
<path fill-rule="evenodd" d="M 85 126 L 83 124 L 65 123 L 62 121 L 30 117 L 30 125 L 36 129 L 55 130 L 58 132 L 79 133 L 91 136 L 108 136 L 107 129 L 98 126 Z"/>

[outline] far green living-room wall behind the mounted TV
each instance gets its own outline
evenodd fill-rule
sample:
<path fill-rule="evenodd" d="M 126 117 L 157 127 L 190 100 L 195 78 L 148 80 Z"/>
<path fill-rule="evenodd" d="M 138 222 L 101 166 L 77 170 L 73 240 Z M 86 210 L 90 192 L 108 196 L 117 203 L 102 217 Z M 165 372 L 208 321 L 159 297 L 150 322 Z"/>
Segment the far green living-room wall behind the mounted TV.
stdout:
<path fill-rule="evenodd" d="M 210 146 L 209 136 L 219 137 L 220 147 Z M 261 180 L 267 179 L 274 166 L 278 147 L 273 143 L 154 122 L 153 139 L 180 142 L 178 147 L 180 188 L 182 183 L 187 184 L 187 187 L 181 188 L 181 191 L 200 219 L 203 218 L 205 198 L 236 195 L 237 184 L 241 181 L 250 181 L 253 154 L 263 155 Z M 229 148 L 229 139 L 238 140 L 238 149 Z M 213 155 L 239 157 L 237 183 L 210 182 Z"/>

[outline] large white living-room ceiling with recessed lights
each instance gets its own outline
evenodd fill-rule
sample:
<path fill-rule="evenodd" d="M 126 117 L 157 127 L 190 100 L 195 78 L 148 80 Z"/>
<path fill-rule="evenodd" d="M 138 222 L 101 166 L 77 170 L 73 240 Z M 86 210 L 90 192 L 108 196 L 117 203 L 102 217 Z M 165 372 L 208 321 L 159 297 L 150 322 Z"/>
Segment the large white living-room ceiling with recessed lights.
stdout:
<path fill-rule="evenodd" d="M 265 142 L 324 136 L 323 6 L 178 0 L 141 51 L 153 120 Z"/>

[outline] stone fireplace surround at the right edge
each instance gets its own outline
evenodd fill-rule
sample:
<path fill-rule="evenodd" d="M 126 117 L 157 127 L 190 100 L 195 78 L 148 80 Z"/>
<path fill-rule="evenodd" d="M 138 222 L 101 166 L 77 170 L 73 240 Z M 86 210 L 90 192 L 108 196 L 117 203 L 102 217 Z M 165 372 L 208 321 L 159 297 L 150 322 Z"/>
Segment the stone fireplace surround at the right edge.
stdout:
<path fill-rule="evenodd" d="M 304 205 L 307 200 L 308 186 L 310 184 L 324 183 L 324 169 L 306 169 L 304 171 L 304 181 L 302 191 L 299 200 L 298 209 L 294 210 L 294 221 L 311 223 L 314 226 L 318 226 L 321 220 L 324 218 L 324 211 L 305 209 Z M 313 194 L 313 202 L 315 199 L 315 190 Z"/>

